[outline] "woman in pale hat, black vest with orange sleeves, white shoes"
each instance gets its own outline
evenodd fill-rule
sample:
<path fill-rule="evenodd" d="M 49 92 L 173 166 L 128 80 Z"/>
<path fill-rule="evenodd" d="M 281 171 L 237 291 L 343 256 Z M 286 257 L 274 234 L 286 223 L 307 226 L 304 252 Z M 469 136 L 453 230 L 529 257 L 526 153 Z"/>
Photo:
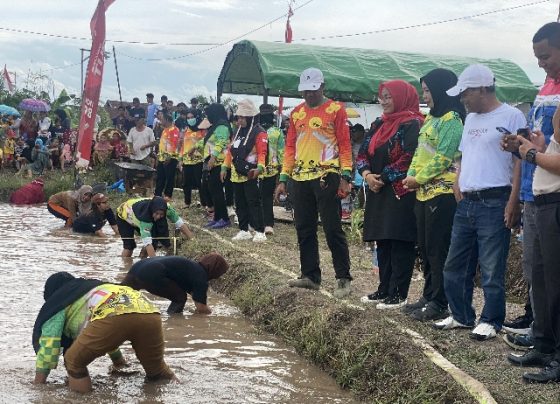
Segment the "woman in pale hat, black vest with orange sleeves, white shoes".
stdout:
<path fill-rule="evenodd" d="M 233 236 L 234 241 L 266 241 L 259 175 L 264 173 L 268 140 L 266 131 L 255 122 L 258 113 L 251 100 L 239 101 L 237 131 L 222 165 L 222 181 L 231 170 L 235 210 L 239 220 L 239 232 Z M 249 225 L 255 230 L 254 236 L 249 231 Z"/>

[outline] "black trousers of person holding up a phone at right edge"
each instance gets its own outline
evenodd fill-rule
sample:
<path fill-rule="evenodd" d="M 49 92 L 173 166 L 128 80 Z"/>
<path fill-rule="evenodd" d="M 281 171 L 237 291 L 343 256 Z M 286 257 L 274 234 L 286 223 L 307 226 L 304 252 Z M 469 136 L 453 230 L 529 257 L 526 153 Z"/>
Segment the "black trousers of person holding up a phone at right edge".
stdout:
<path fill-rule="evenodd" d="M 560 360 L 560 203 L 537 206 L 533 246 L 535 349 Z"/>

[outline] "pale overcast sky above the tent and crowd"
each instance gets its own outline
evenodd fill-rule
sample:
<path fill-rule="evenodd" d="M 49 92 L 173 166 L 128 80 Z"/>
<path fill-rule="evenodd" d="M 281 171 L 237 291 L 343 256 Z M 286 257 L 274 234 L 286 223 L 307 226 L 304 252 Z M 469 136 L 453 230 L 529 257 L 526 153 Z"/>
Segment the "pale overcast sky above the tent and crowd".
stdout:
<path fill-rule="evenodd" d="M 7 2 L 7 0 L 5 0 Z M 454 19 L 538 0 L 297 0 L 292 17 L 294 42 L 313 45 L 437 53 L 481 58 L 506 58 L 519 64 L 535 83 L 544 73 L 533 56 L 531 38 L 543 24 L 555 21 L 558 3 L 529 7 L 473 19 L 395 32 L 301 42 L 302 38 L 367 32 Z M 0 18 L 1 29 L 38 31 L 90 38 L 89 22 L 97 0 L 23 0 L 10 2 Z M 177 103 L 196 94 L 215 95 L 216 81 L 232 43 L 195 56 L 151 62 L 135 58 L 172 58 L 210 46 L 169 43 L 224 43 L 286 13 L 287 0 L 116 0 L 107 12 L 107 39 L 158 42 L 159 45 L 115 45 L 124 100 L 146 92 Z M 278 41 L 285 19 L 266 25 L 244 39 Z M 48 74 L 56 92 L 80 88 L 80 48 L 91 40 L 43 37 L 0 30 L 1 64 L 17 72 L 18 87 L 27 72 Z M 78 65 L 70 66 L 78 63 Z M 53 67 L 69 66 L 64 69 Z M 460 72 L 456 72 L 457 74 Z M 52 92 L 52 90 L 51 90 Z M 118 99 L 113 58 L 105 64 L 101 99 Z M 240 98 L 240 96 L 235 96 Z"/>

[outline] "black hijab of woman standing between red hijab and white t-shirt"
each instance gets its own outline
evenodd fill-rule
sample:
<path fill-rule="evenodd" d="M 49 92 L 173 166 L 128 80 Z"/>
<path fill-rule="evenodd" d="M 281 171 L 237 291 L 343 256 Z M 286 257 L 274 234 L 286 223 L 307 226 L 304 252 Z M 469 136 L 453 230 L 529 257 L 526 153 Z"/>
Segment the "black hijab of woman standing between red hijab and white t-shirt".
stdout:
<path fill-rule="evenodd" d="M 457 76 L 451 70 L 434 69 L 424 77 L 420 78 L 420 83 L 426 83 L 432 94 L 434 107 L 430 109 L 430 115 L 439 118 L 449 111 L 455 111 L 465 121 L 467 112 L 461 103 L 459 96 L 450 97 L 446 91 L 457 84 Z"/>

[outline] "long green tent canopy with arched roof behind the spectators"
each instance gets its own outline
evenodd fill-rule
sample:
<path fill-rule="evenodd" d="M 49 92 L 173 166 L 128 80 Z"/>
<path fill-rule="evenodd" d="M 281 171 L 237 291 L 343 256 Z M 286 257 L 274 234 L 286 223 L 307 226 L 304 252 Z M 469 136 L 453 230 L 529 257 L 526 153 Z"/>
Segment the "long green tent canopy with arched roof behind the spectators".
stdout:
<path fill-rule="evenodd" d="M 218 97 L 249 94 L 300 98 L 299 75 L 308 67 L 317 67 L 325 76 L 328 97 L 373 103 L 383 81 L 406 80 L 421 91 L 419 79 L 430 70 L 442 67 L 459 75 L 473 63 L 492 69 L 497 95 L 502 101 L 534 100 L 536 87 L 525 72 L 509 60 L 261 41 L 240 41 L 233 46 L 218 78 Z"/>

